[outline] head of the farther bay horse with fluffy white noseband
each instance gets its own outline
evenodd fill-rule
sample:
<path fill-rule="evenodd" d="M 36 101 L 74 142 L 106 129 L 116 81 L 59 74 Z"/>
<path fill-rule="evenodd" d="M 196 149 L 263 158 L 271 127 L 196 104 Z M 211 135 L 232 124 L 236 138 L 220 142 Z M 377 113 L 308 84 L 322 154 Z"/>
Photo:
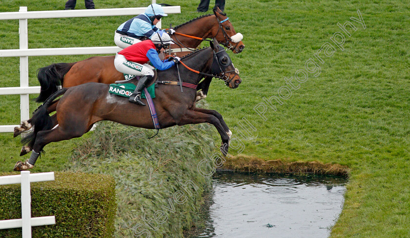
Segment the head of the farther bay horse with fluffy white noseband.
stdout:
<path fill-rule="evenodd" d="M 215 38 L 219 40 L 222 45 L 231 49 L 234 54 L 241 53 L 245 48 L 242 42 L 244 38 L 242 34 L 236 33 L 229 18 L 226 17 L 226 14 L 223 13 L 218 6 L 214 7 L 213 12 L 219 23 L 218 29 L 214 30 L 216 32 L 214 33 Z"/>

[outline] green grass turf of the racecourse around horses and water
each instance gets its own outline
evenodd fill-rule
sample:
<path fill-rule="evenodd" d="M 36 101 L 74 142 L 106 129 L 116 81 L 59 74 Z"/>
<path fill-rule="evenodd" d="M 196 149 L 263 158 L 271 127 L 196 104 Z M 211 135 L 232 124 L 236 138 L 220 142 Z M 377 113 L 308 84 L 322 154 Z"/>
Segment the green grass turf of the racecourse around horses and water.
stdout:
<path fill-rule="evenodd" d="M 164 18 L 163 26 L 180 24 L 198 14 L 198 2 L 169 0 L 181 5 L 182 14 Z M 3 0 L 0 11 L 62 10 L 64 2 Z M 96 1 L 97 8 L 145 6 L 149 1 Z M 211 3 L 211 7 L 213 3 Z M 84 9 L 78 2 L 79 9 Z M 367 28 L 349 20 L 360 10 Z M 245 117 L 256 128 L 243 139 L 243 154 L 263 159 L 313 161 L 349 166 L 350 183 L 342 214 L 332 238 L 410 236 L 409 193 L 409 4 L 398 0 L 375 1 L 227 1 L 225 12 L 246 48 L 230 56 L 243 79 L 238 89 L 221 81 L 211 84 L 207 102 L 234 127 Z M 211 11 L 209 11 L 211 13 Z M 113 31 L 129 16 L 87 19 L 29 20 L 29 48 L 113 45 Z M 263 97 L 278 96 L 284 78 L 305 68 L 305 62 L 330 37 L 341 32 L 336 25 L 351 21 L 357 31 L 346 39 L 344 51 L 325 57 L 321 74 L 309 74 L 292 90 L 277 111 L 267 108 L 266 120 L 253 110 Z M 18 48 L 17 20 L 0 24 L 0 48 Z M 204 44 L 205 45 L 205 44 Z M 334 44 L 333 44 L 334 45 Z M 72 62 L 88 56 L 32 57 L 30 85 L 38 85 L 36 69 L 53 62 Z M 317 62 L 317 61 L 316 61 Z M 18 86 L 16 58 L 0 58 L 0 86 Z M 295 79 L 293 79 L 295 82 Z M 35 97 L 35 96 L 32 96 Z M 18 96 L 1 96 L 0 122 L 20 120 Z M 35 103 L 31 104 L 34 110 Z M 214 130 L 215 142 L 220 141 Z M 20 145 L 11 134 L 0 135 L 0 171 L 9 171 L 18 159 Z M 45 147 L 34 171 L 60 170 L 75 143 Z M 236 155 L 235 150 L 230 151 Z M 52 161 L 52 158 L 55 158 Z"/>

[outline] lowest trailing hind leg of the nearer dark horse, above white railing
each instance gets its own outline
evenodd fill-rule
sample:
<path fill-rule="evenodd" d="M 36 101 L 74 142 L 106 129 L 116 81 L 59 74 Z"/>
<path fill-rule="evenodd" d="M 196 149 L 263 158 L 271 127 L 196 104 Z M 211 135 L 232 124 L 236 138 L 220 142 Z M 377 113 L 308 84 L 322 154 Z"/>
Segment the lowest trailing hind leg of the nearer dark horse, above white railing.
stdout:
<path fill-rule="evenodd" d="M 22 171 L 22 170 L 28 170 L 33 168 L 34 164 L 37 161 L 37 158 L 39 158 L 40 153 L 42 149 L 44 148 L 45 145 L 51 143 L 51 142 L 57 142 L 57 141 L 62 141 L 66 139 L 72 139 L 72 138 L 77 138 L 81 137 L 84 135 L 85 131 L 80 130 L 80 129 L 63 129 L 60 126 L 57 126 L 56 128 L 52 130 L 47 130 L 47 131 L 40 131 L 37 133 L 36 136 L 36 141 L 34 142 L 32 152 L 30 159 L 27 159 L 25 162 L 17 162 L 16 165 L 14 166 L 15 171 Z"/>

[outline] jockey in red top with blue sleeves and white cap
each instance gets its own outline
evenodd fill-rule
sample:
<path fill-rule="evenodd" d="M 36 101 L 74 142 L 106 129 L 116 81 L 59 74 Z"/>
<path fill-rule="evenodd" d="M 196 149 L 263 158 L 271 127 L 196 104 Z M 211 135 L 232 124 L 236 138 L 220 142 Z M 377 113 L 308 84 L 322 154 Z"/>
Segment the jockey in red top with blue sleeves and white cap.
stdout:
<path fill-rule="evenodd" d="M 160 52 L 163 52 L 173 43 L 168 34 L 159 31 L 151 37 L 151 40 L 143 40 L 117 53 L 114 65 L 118 71 L 124 74 L 143 76 L 138 80 L 134 93 L 129 97 L 130 102 L 145 106 L 141 101 L 141 93 L 154 78 L 154 67 L 158 70 L 165 70 L 179 62 L 179 57 L 175 57 L 171 61 L 167 59 L 161 61 L 158 56 Z M 154 67 L 147 64 L 148 61 L 151 61 Z"/>

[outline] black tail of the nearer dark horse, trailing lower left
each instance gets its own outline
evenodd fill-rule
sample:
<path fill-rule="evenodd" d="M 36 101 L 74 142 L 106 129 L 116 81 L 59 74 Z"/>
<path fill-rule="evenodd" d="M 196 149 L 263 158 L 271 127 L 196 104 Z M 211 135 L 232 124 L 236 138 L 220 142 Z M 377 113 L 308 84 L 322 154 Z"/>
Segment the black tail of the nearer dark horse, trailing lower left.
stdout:
<path fill-rule="evenodd" d="M 31 118 L 31 124 L 33 125 L 34 130 L 27 134 L 27 136 L 21 139 L 21 143 L 27 144 L 30 148 L 33 148 L 34 142 L 36 140 L 37 133 L 39 131 L 46 131 L 52 129 L 53 121 L 47 111 L 47 107 L 54 102 L 54 99 L 60 97 L 67 91 L 68 88 L 62 88 L 59 91 L 55 92 L 44 103 L 36 109 Z"/>

